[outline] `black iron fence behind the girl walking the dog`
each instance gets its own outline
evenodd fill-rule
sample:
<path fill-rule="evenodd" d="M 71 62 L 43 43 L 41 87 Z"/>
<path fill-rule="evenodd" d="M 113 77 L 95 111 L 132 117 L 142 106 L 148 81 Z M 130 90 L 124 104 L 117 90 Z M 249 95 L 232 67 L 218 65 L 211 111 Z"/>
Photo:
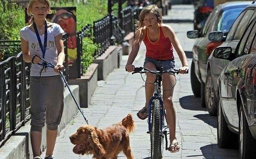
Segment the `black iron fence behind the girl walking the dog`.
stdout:
<path fill-rule="evenodd" d="M 65 55 L 67 55 L 67 38 L 65 34 L 63 36 Z M 9 44 L 5 41 L 5 47 L 10 45 L 12 41 Z M 7 54 L 9 55 L 12 54 Z M 67 62 L 66 58 L 63 74 L 68 81 Z M 0 145 L 30 119 L 29 75 L 30 63 L 23 60 L 21 52 L 0 62 Z"/>

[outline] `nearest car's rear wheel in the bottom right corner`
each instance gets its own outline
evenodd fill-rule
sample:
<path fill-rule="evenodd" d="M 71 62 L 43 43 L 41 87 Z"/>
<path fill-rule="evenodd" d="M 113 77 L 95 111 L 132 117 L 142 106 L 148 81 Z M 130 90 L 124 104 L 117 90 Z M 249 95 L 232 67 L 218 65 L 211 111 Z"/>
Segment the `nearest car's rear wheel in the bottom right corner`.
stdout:
<path fill-rule="evenodd" d="M 240 159 L 255 159 L 256 140 L 252 137 L 242 103 L 239 110 L 239 155 Z"/>

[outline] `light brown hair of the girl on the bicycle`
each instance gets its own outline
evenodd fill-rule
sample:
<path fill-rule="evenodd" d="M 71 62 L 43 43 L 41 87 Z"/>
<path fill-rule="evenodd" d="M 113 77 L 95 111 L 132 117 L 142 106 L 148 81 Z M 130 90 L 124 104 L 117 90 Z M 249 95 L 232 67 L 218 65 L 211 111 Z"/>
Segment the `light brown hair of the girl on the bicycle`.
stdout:
<path fill-rule="evenodd" d="M 154 13 L 156 15 L 157 21 L 159 24 L 161 24 L 163 22 L 162 14 L 161 14 L 159 8 L 157 7 L 157 5 L 148 5 L 144 9 L 142 9 L 142 11 L 140 12 L 139 20 L 135 21 L 137 29 L 144 26 L 144 24 L 143 24 L 144 17 L 147 14 L 149 14 L 150 12 Z"/>

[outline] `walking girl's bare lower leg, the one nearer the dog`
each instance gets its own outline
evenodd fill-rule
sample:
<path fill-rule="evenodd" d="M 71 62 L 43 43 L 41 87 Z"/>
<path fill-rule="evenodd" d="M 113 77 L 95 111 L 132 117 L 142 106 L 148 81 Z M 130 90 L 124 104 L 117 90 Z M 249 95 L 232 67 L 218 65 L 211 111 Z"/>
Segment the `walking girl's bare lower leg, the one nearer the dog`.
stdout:
<path fill-rule="evenodd" d="M 58 129 L 53 130 L 53 131 L 47 129 L 47 131 L 46 131 L 47 147 L 46 147 L 45 155 L 53 155 L 53 150 L 54 150 L 54 146 L 55 146 L 55 142 L 56 142 L 56 138 L 57 138 L 57 133 L 58 133 Z"/>

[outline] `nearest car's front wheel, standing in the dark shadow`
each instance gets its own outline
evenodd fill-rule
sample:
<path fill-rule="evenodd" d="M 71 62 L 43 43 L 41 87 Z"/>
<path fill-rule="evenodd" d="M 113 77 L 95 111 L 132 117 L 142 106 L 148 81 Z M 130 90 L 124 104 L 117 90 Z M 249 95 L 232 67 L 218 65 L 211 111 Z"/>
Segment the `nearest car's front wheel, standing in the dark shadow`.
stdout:
<path fill-rule="evenodd" d="M 237 134 L 230 131 L 222 112 L 221 100 L 218 96 L 217 105 L 217 142 L 220 148 L 235 148 L 238 146 Z"/>

